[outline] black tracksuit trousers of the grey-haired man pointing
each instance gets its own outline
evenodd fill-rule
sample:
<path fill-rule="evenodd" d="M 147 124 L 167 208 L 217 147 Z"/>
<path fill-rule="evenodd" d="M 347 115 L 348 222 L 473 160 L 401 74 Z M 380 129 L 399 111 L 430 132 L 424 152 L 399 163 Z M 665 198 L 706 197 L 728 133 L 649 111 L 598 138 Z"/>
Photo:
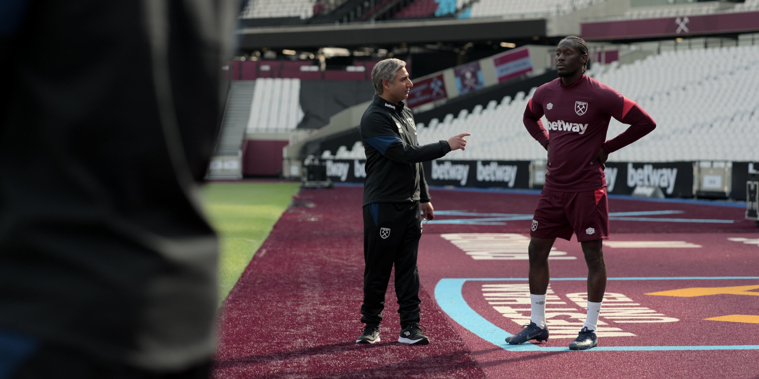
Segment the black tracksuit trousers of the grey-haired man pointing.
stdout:
<path fill-rule="evenodd" d="M 364 304 L 361 305 L 364 324 L 379 325 L 382 321 L 393 265 L 401 327 L 419 323 L 417 252 L 421 234 L 419 202 L 364 206 Z"/>

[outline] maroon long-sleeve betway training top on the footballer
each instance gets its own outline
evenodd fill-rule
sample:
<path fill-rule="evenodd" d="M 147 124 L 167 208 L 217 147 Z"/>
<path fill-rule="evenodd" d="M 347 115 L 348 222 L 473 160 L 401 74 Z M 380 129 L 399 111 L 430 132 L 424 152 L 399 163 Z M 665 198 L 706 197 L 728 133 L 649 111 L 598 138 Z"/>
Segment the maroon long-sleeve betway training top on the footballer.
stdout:
<path fill-rule="evenodd" d="M 543 115 L 548 121 L 545 127 L 540 121 Z M 611 117 L 630 127 L 606 141 Z M 557 78 L 538 87 L 524 109 L 523 121 L 543 148 L 550 143 L 543 188 L 562 192 L 594 191 L 606 186 L 601 164 L 591 164 L 598 149 L 611 154 L 657 126 L 636 102 L 585 75 L 566 86 Z"/>

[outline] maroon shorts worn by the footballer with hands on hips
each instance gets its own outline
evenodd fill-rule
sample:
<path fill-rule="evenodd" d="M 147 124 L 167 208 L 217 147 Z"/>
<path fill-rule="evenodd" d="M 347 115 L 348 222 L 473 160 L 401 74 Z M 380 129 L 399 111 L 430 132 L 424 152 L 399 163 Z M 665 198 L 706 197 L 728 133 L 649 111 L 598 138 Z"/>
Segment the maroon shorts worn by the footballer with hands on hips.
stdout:
<path fill-rule="evenodd" d="M 543 189 L 535 207 L 531 236 L 577 241 L 609 239 L 609 200 L 606 187 L 587 192 Z"/>

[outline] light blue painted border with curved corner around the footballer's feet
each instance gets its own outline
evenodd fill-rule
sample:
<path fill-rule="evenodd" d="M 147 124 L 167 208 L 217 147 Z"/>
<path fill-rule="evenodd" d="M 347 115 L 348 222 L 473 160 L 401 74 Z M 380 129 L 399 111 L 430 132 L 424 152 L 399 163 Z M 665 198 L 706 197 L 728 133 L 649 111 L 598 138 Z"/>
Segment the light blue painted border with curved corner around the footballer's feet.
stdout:
<path fill-rule="evenodd" d="M 608 280 L 726 280 L 748 279 L 757 280 L 759 277 L 609 277 Z M 509 345 L 505 338 L 511 334 L 502 330 L 495 324 L 487 321 L 479 313 L 467 304 L 461 295 L 461 288 L 467 280 L 477 281 L 527 281 L 528 278 L 446 278 L 441 279 L 435 286 L 435 300 L 443 312 L 446 312 L 453 321 L 476 334 L 477 337 L 493 343 L 502 349 L 515 352 L 548 352 L 570 351 L 568 347 L 540 347 L 534 343 L 522 345 Z M 551 280 L 587 280 L 587 277 L 556 277 Z M 596 346 L 592 351 L 663 351 L 663 350 L 755 350 L 759 345 L 715 345 L 715 346 Z"/>

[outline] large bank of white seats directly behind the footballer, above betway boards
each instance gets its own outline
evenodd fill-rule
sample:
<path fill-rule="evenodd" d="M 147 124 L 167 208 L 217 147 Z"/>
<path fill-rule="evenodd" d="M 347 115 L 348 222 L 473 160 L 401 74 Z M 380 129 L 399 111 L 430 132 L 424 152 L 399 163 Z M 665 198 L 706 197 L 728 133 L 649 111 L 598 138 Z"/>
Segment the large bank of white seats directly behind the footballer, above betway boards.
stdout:
<path fill-rule="evenodd" d="M 638 102 L 657 121 L 653 133 L 613 153 L 610 161 L 759 159 L 759 45 L 663 52 L 633 64 L 596 64 L 588 74 Z M 427 127 L 417 124 L 419 142 L 469 132 L 466 151 L 444 159 L 545 159 L 545 150 L 522 124 L 534 90 L 477 105 L 471 113 L 447 114 Z M 627 127 L 612 119 L 607 139 Z M 335 158 L 363 154 L 357 143 Z"/>

